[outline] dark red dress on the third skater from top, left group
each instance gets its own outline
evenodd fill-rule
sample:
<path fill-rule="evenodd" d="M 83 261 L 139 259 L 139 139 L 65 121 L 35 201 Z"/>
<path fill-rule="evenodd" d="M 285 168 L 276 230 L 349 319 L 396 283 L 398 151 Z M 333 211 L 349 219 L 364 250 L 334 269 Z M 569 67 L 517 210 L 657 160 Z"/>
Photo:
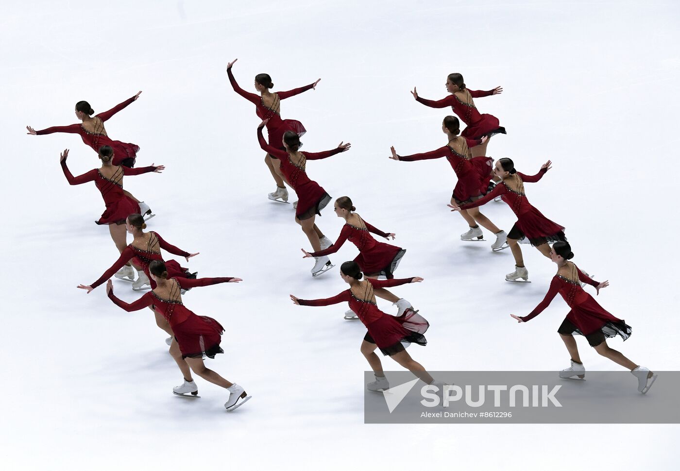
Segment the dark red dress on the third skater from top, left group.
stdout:
<path fill-rule="evenodd" d="M 178 249 L 174 245 L 167 243 L 165 240 L 163 240 L 162 237 L 160 237 L 160 235 L 158 235 L 157 232 L 149 232 L 149 234 L 150 237 L 146 245 L 146 249 L 140 249 L 139 247 L 135 247 L 132 244 L 128 245 L 120 253 L 120 257 L 111 266 L 111 268 L 105 271 L 104 274 L 101 275 L 101 277 L 99 277 L 99 279 L 97 279 L 97 281 L 95 281 L 95 283 L 92 283 L 90 286 L 96 288 L 97 286 L 101 285 L 101 283 L 111 278 L 114 275 L 114 273 L 120 270 L 120 268 L 122 268 L 123 265 L 129 262 L 129 260 L 131 260 L 132 258 L 135 258 L 135 262 L 137 262 L 138 265 L 141 265 L 141 268 L 143 269 L 144 273 L 146 273 L 146 276 L 149 279 L 149 283 L 151 284 L 152 290 L 156 289 L 156 281 L 154 281 L 154 279 L 151 277 L 149 273 L 149 264 L 154 260 L 158 260 L 159 262 L 165 263 L 165 269 L 168 272 L 168 278 L 196 277 L 195 273 L 193 275 L 189 273 L 188 268 L 183 268 L 182 266 L 180 266 L 179 263 L 177 263 L 176 260 L 169 260 L 165 262 L 165 260 L 163 260 L 163 256 L 160 254 L 160 249 L 165 249 L 169 251 L 171 254 L 179 255 L 182 257 L 190 256 L 191 254 L 189 254 L 189 252 L 186 252 L 182 249 Z"/>

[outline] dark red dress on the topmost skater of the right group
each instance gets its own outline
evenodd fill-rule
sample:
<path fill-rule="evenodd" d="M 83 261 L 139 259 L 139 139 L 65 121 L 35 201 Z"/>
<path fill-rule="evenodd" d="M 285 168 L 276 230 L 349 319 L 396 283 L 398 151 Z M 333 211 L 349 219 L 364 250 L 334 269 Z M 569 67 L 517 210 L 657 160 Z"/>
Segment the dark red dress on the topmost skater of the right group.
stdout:
<path fill-rule="evenodd" d="M 451 94 L 448 97 L 439 101 L 426 100 L 418 97 L 416 100 L 423 105 L 430 108 L 445 108 L 450 106 L 454 113 L 462 122 L 466 124 L 466 128 L 460 133 L 462 137 L 469 137 L 471 139 L 481 139 L 482 136 L 492 137 L 496 134 L 507 134 L 505 128 L 500 126 L 498 118 L 491 114 L 480 114 L 475 106 L 473 98 L 489 97 L 494 94 L 494 90 L 483 92 L 481 90 L 462 90 L 465 92 L 464 99 L 460 99 L 456 94 Z"/>

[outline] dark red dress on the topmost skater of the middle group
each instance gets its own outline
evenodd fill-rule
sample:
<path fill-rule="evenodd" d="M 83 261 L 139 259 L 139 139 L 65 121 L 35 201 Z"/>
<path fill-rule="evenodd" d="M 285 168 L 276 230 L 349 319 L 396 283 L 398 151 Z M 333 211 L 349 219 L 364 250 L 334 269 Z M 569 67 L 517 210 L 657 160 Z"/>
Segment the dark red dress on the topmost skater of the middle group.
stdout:
<path fill-rule="evenodd" d="M 306 92 L 307 90 L 311 90 L 313 84 L 309 84 L 300 88 L 294 88 L 293 90 L 288 90 L 288 92 L 274 92 L 274 102 L 271 105 L 271 108 L 269 108 L 265 106 L 265 102 L 262 101 L 262 97 L 260 97 L 260 95 L 246 92 L 243 90 L 243 88 L 239 87 L 239 84 L 236 83 L 233 73 L 231 73 L 231 67 L 226 69 L 226 73 L 229 76 L 229 82 L 231 82 L 231 86 L 234 88 L 234 91 L 255 105 L 255 112 L 257 116 L 262 118 L 262 120 L 269 118 L 269 122 L 267 122 L 269 145 L 276 147 L 277 149 L 283 149 L 284 147 L 282 140 L 284 139 L 284 133 L 286 133 L 288 130 L 299 136 L 305 134 L 305 126 L 303 126 L 301 122 L 296 120 L 281 119 L 281 115 L 279 114 L 280 101 L 285 100 L 286 98 L 294 97 L 296 94 Z"/>

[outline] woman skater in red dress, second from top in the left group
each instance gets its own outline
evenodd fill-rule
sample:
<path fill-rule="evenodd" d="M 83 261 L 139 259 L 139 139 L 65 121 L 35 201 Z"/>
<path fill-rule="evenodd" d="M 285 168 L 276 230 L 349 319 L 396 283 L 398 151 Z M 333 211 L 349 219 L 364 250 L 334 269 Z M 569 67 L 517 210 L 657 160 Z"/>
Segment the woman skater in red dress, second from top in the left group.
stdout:
<path fill-rule="evenodd" d="M 99 149 L 99 159 L 101 167 L 90 170 L 88 173 L 74 177 L 66 165 L 69 150 L 65 150 L 61 156 L 61 169 L 64 171 L 66 179 L 71 185 L 82 185 L 88 181 L 94 181 L 97 190 L 101 192 L 104 199 L 106 211 L 103 212 L 96 224 L 108 224 L 111 238 L 114 239 L 116 248 L 122 253 L 127 246 L 125 220 L 131 214 L 141 213 L 139 205 L 123 192 L 124 175 L 141 175 L 142 173 L 161 173 L 165 170 L 164 165 L 151 164 L 150 167 L 139 167 L 131 169 L 122 165 L 112 164 L 114 150 L 108 145 L 103 145 Z"/>

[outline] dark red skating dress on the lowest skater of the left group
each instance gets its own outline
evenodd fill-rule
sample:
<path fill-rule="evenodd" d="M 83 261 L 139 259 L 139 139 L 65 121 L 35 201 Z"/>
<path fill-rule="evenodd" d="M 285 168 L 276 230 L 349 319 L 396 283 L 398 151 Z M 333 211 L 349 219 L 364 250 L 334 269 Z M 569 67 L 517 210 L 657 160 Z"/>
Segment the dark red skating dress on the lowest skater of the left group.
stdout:
<path fill-rule="evenodd" d="M 109 292 L 109 298 L 119 307 L 128 312 L 139 311 L 151 306 L 154 311 L 165 317 L 170 324 L 170 328 L 175 336 L 177 344 L 180 346 L 182 357 L 202 358 L 204 356 L 214 358 L 217 353 L 224 353 L 220 347 L 222 332 L 224 327 L 213 319 L 205 315 L 196 315 L 182 304 L 182 294 L 180 290 L 189 290 L 197 286 L 216 285 L 227 283 L 230 278 L 173 278 L 169 279 L 170 295 L 163 298 L 153 291 L 148 292 L 135 302 L 128 304 L 116 296 L 114 290 Z"/>

